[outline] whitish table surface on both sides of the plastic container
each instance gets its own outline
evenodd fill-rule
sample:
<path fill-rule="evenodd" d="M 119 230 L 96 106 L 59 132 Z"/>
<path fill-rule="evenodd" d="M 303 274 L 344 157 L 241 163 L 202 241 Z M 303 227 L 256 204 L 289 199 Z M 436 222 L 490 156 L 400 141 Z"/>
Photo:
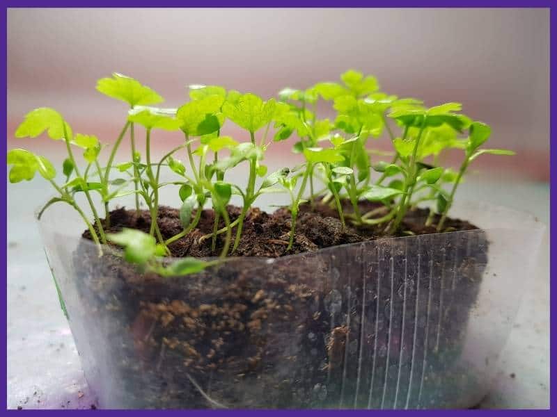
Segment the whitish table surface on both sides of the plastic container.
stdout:
<path fill-rule="evenodd" d="M 547 183 L 462 184 L 459 197 L 530 211 L 549 224 Z M 499 177 L 503 177 L 502 175 Z M 52 195 L 42 179 L 8 185 L 8 408 L 76 409 L 95 405 L 58 303 L 34 209 Z M 262 202 L 265 207 L 265 202 Z M 549 407 L 549 232 L 481 408 Z M 515 377 L 510 375 L 514 374 Z"/>

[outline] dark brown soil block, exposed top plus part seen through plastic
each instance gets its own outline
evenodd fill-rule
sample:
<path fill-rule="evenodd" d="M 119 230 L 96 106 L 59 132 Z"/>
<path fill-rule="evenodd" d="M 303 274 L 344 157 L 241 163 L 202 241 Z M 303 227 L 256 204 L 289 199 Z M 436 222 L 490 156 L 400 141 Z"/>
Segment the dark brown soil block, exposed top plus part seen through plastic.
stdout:
<path fill-rule="evenodd" d="M 361 211 L 377 207 L 362 203 Z M 240 214 L 228 211 L 231 221 Z M 409 212 L 397 236 L 436 233 L 424 225 L 427 214 Z M 481 232 L 409 244 L 379 239 L 387 237 L 379 227 L 343 228 L 334 209 L 305 204 L 287 251 L 290 220 L 285 209 L 253 208 L 234 254 L 246 258 L 187 277 L 143 274 L 80 245 L 74 310 L 83 317 L 72 318 L 88 325 L 72 332 L 92 358 L 85 371 L 100 407 L 392 409 L 477 400 L 459 357 L 487 263 Z M 201 239 L 213 221 L 203 211 L 198 227 L 169 245 L 173 256 L 218 256 L 224 235 L 214 251 Z M 165 239 L 182 231 L 174 208 L 160 207 L 157 222 Z M 150 216 L 119 208 L 109 231 L 122 227 L 148 231 Z M 476 229 L 454 219 L 446 227 Z M 345 245 L 368 240 L 377 243 Z M 319 251 L 336 245 L 344 246 Z M 291 254 L 299 256 L 283 257 Z"/>

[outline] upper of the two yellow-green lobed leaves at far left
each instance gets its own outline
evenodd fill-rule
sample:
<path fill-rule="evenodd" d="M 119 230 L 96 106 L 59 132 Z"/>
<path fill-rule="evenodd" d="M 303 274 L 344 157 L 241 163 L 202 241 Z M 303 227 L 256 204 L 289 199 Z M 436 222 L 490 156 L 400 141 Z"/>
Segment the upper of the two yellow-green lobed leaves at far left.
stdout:
<path fill-rule="evenodd" d="M 41 107 L 25 115 L 25 120 L 15 130 L 16 138 L 36 138 L 47 131 L 49 138 L 54 140 L 72 138 L 72 129 L 60 113 L 53 108 Z"/>

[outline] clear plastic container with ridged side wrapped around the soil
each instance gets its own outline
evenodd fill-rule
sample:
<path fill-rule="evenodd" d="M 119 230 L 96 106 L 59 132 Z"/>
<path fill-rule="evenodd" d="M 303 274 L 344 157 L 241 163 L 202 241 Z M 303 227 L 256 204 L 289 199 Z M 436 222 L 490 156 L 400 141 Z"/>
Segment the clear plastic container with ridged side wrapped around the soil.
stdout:
<path fill-rule="evenodd" d="M 113 272 L 65 210 L 40 221 L 45 251 L 88 384 L 117 409 L 472 407 L 493 382 L 544 230 L 525 213 L 466 204 L 452 217 L 482 229 L 233 259 L 146 284 Z M 294 297 L 292 284 L 307 293 Z M 230 288 L 262 290 L 277 312 L 252 329 L 263 301 L 247 300 L 252 316 L 228 334 L 199 316 L 202 341 L 186 341 L 183 325 L 138 324 L 149 303 L 222 306 Z M 173 336 L 195 353 L 171 349 Z M 211 361 L 219 338 L 222 360 Z M 239 359 L 251 346 L 255 364 Z"/>

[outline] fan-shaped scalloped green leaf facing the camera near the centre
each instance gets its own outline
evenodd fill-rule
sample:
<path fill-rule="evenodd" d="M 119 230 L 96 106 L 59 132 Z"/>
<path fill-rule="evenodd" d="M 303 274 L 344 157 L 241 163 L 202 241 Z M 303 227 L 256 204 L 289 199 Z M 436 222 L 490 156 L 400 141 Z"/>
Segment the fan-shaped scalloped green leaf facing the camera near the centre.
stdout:
<path fill-rule="evenodd" d="M 234 100 L 227 99 L 222 110 L 238 126 L 253 133 L 271 122 L 276 105 L 274 99 L 262 101 L 260 97 L 247 93 Z"/>

